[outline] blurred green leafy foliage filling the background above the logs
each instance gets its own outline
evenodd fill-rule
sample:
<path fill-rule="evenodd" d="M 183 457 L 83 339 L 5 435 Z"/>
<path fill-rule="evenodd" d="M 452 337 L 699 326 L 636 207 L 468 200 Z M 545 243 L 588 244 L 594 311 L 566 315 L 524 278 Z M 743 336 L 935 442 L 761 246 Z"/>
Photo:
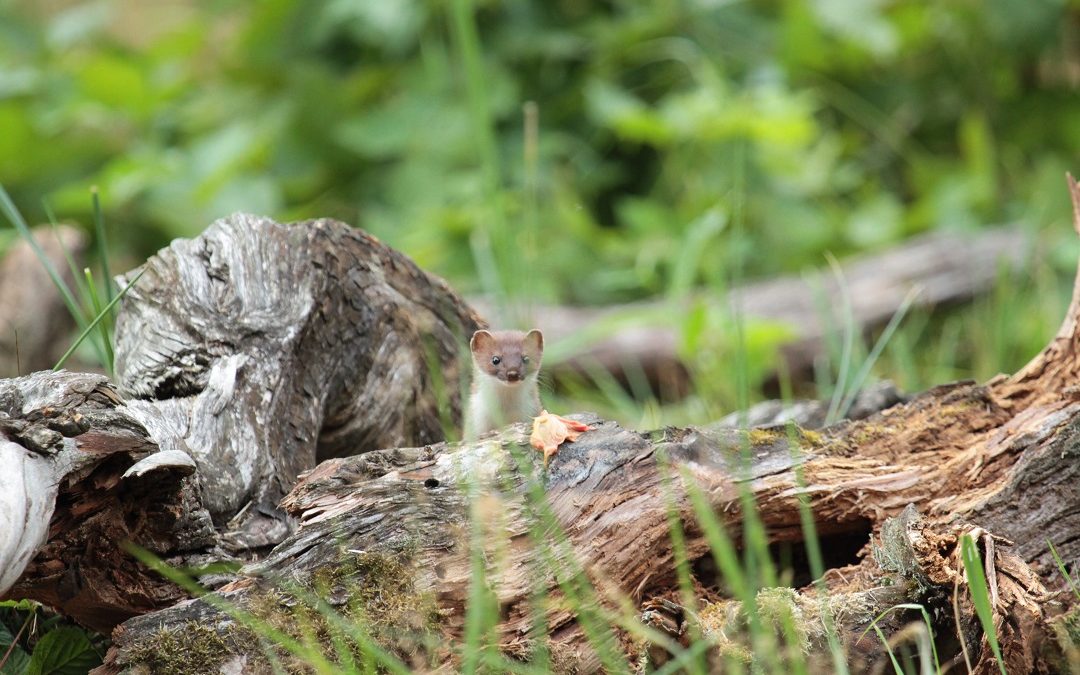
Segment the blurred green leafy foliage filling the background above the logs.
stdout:
<path fill-rule="evenodd" d="M 1078 84 L 1076 0 L 0 0 L 0 183 L 86 222 L 99 186 L 135 260 L 332 216 L 562 302 L 1005 220 L 1068 274 Z"/>

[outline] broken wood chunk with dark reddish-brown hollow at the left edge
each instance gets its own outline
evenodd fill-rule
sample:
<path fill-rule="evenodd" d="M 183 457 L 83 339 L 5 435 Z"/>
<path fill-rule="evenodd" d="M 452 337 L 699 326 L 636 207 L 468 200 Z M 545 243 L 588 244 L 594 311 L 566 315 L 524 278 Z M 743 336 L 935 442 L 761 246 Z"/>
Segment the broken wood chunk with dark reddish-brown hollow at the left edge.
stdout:
<path fill-rule="evenodd" d="M 0 380 L 0 597 L 40 600 L 98 631 L 184 598 L 120 546 L 174 564 L 213 548 L 194 463 L 159 453 L 105 377 Z"/>

